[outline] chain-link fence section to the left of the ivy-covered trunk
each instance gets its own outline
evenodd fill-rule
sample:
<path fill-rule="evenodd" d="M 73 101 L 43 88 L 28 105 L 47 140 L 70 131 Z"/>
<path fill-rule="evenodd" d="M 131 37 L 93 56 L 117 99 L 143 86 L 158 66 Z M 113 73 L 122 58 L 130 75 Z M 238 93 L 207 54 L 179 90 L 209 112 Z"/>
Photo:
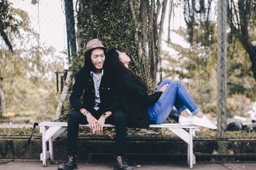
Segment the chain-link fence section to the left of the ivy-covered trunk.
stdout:
<path fill-rule="evenodd" d="M 65 4 L 51 0 L 3 4 L 6 13 L 1 13 L 5 24 L 1 31 L 13 52 L 1 34 L 1 122 L 52 120 L 63 86 L 63 70 L 68 66 Z M 10 27 L 14 24 L 18 26 Z"/>

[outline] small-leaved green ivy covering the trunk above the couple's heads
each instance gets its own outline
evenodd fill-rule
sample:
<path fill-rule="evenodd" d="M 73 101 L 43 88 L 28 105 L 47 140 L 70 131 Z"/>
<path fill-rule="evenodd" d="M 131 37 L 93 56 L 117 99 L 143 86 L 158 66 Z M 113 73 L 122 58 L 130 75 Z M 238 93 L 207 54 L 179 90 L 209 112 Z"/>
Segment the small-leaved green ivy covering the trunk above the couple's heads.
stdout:
<path fill-rule="evenodd" d="M 115 47 L 127 52 L 132 58 L 132 69 L 141 75 L 136 68 L 136 62 L 138 62 L 138 46 L 134 45 L 136 24 L 131 17 L 129 1 L 83 0 L 80 1 L 79 9 L 77 13 L 77 38 L 81 50 L 80 56 L 72 62 L 74 71 L 83 66 L 83 46 L 90 39 L 99 38 L 108 48 Z"/>

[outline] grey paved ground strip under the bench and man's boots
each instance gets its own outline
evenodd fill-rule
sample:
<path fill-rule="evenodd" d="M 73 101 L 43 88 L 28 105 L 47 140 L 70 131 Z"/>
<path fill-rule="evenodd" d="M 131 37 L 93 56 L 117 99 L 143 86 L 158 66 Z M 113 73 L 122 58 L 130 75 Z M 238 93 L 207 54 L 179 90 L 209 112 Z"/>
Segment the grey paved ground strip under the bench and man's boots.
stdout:
<path fill-rule="evenodd" d="M 1 162 L 1 161 L 0 161 Z M 90 169 L 90 170 L 109 170 L 113 169 L 111 164 L 79 164 L 78 169 Z M 1 170 L 56 170 L 58 164 L 48 164 L 47 167 L 42 167 L 42 162 L 38 161 L 21 161 L 15 160 L 15 162 L 10 162 L 8 164 L 0 165 Z M 141 164 L 134 166 L 136 170 L 182 170 L 189 169 L 185 164 Z M 196 164 L 194 169 L 202 170 L 255 170 L 255 164 Z"/>

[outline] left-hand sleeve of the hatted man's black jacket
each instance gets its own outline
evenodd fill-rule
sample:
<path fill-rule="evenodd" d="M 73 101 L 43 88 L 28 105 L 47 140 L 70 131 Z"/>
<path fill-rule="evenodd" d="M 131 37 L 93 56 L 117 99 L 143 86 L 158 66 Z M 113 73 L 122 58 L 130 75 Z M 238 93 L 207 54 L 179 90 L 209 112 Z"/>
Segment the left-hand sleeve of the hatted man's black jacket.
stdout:
<path fill-rule="evenodd" d="M 70 104 L 74 110 L 79 111 L 83 108 L 83 104 L 80 101 L 81 96 L 83 95 L 83 71 L 79 71 L 76 74 L 76 80 L 73 85 L 72 94 L 69 97 Z"/>

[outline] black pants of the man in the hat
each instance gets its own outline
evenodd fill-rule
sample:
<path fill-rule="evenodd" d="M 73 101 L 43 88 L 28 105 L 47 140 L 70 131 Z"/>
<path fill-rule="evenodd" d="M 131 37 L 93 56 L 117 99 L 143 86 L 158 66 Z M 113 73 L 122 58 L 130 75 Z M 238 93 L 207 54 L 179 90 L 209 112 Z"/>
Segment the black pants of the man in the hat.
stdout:
<path fill-rule="evenodd" d="M 93 117 L 99 119 L 102 115 L 102 111 L 93 111 Z M 116 143 L 115 150 L 116 155 L 124 155 L 126 151 L 126 127 L 127 118 L 125 113 L 122 111 L 116 111 L 112 113 L 110 117 L 106 119 L 106 124 L 115 124 L 116 126 Z M 79 124 L 88 124 L 86 117 L 80 111 L 72 111 L 68 118 L 68 128 L 67 128 L 67 153 L 77 152 L 77 138 Z"/>

